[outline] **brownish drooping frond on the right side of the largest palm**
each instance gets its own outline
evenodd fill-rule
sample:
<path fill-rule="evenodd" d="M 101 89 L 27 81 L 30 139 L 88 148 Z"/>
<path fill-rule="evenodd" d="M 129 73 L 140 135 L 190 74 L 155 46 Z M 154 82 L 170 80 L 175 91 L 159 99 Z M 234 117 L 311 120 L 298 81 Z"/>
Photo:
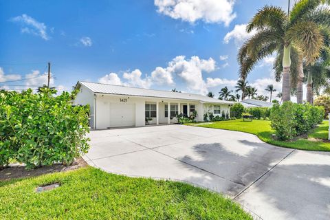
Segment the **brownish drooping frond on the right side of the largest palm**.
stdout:
<path fill-rule="evenodd" d="M 306 58 L 306 63 L 314 63 L 323 45 L 323 36 L 316 23 L 311 21 L 298 22 L 287 31 L 286 40 L 294 43 Z"/>

